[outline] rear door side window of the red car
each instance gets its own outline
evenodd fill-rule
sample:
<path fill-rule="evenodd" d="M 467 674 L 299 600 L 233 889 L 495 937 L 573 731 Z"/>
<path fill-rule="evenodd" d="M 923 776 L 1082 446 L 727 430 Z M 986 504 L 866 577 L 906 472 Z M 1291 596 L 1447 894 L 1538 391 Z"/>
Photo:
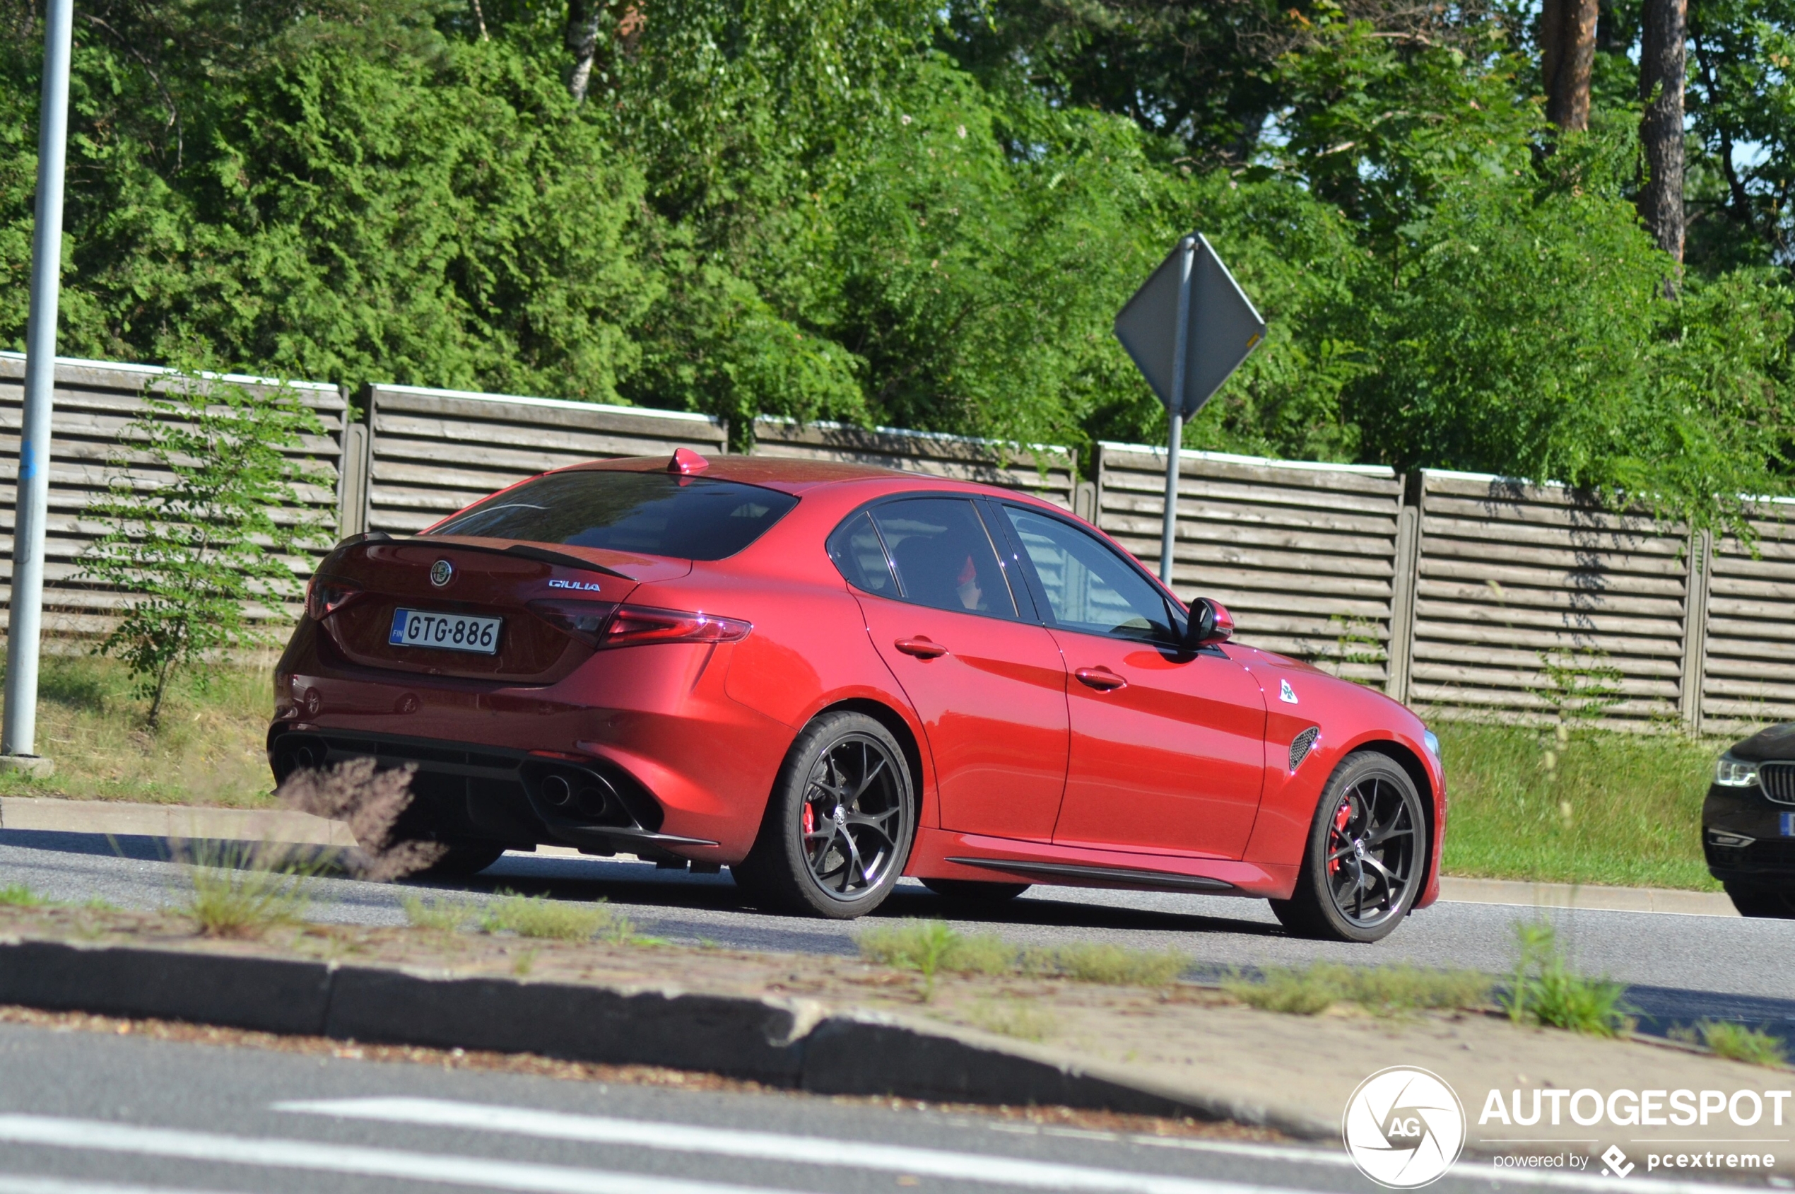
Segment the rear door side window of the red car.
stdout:
<path fill-rule="evenodd" d="M 880 537 L 898 567 L 906 601 L 955 612 L 1014 618 L 998 555 L 973 503 L 960 497 L 906 497 L 872 508 Z"/>

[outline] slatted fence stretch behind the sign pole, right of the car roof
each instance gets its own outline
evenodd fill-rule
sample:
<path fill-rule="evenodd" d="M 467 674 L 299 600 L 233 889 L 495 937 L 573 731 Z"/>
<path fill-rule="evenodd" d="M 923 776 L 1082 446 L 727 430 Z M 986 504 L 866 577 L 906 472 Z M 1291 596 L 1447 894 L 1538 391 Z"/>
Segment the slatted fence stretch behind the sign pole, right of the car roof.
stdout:
<path fill-rule="evenodd" d="M 1172 566 L 1237 637 L 1431 716 L 1734 733 L 1795 718 L 1795 501 L 1757 555 L 1467 472 L 1186 452 Z M 1158 569 L 1165 451 L 1099 445 L 1099 526 Z"/>

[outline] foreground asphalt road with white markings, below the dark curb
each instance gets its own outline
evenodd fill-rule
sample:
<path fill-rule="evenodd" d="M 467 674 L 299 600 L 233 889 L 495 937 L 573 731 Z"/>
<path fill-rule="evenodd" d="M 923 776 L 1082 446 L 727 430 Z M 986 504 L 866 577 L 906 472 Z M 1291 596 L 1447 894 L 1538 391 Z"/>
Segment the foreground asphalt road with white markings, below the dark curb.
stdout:
<path fill-rule="evenodd" d="M 1495 1178 L 1501 1176 L 1501 1183 Z M 1443 1194 L 1612 1189 L 1461 1160 Z M 1689 1185 L 1644 1181 L 1659 1194 Z M 0 1023 L 0 1194 L 1280 1194 L 1335 1149 L 1156 1138 L 795 1093 L 682 1092 Z"/>

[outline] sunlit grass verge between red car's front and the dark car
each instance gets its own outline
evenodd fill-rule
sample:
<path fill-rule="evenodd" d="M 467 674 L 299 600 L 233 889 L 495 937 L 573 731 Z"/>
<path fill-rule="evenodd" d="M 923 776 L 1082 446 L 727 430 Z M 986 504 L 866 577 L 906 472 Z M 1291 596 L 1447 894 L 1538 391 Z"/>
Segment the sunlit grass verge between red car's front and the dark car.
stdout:
<path fill-rule="evenodd" d="M 1730 740 L 1440 722 L 1447 874 L 1720 891 L 1702 797 Z"/>

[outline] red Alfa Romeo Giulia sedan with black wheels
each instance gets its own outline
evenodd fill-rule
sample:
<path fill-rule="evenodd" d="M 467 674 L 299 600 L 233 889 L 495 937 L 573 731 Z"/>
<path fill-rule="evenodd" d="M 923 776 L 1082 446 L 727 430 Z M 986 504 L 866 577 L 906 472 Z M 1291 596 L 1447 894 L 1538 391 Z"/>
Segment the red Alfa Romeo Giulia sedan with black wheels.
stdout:
<path fill-rule="evenodd" d="M 1438 894 L 1434 738 L 1231 628 L 1045 501 L 680 451 L 339 544 L 267 751 L 276 779 L 411 765 L 402 831 L 445 869 L 571 844 L 815 916 L 912 874 L 1258 896 L 1382 937 Z"/>

